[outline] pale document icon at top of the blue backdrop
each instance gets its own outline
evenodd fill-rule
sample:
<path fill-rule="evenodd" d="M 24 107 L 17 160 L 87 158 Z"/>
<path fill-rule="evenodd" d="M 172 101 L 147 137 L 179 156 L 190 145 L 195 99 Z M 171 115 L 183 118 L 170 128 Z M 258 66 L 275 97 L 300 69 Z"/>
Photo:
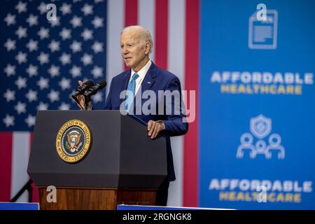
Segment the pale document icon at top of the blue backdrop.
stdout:
<path fill-rule="evenodd" d="M 249 17 L 248 48 L 276 49 L 278 32 L 278 12 L 267 10 L 267 19 L 258 20 L 258 11 Z"/>

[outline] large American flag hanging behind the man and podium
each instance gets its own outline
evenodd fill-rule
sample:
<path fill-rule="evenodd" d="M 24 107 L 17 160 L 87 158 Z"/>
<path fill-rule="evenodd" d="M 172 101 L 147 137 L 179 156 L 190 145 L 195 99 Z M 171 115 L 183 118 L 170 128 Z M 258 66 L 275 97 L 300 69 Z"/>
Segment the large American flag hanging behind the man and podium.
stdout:
<path fill-rule="evenodd" d="M 46 18 L 48 3 L 55 4 L 57 20 Z M 183 90 L 197 90 L 199 7 L 199 0 L 3 1 L 0 202 L 29 180 L 36 111 L 78 109 L 70 97 L 78 80 L 110 83 L 126 69 L 120 56 L 123 27 L 151 31 L 153 62 L 175 73 Z M 103 109 L 105 91 L 92 103 Z M 197 118 L 185 138 L 172 138 L 172 148 L 177 180 L 169 189 L 169 205 L 197 206 Z M 26 202 L 27 194 L 19 201 Z"/>

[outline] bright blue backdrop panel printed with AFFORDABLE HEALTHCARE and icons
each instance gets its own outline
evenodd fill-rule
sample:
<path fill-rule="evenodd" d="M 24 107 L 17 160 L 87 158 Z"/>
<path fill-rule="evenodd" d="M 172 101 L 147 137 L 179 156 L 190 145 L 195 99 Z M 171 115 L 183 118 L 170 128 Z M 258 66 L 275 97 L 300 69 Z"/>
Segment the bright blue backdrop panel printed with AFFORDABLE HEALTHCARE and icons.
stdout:
<path fill-rule="evenodd" d="M 200 207 L 315 209 L 314 11 L 202 1 Z"/>

